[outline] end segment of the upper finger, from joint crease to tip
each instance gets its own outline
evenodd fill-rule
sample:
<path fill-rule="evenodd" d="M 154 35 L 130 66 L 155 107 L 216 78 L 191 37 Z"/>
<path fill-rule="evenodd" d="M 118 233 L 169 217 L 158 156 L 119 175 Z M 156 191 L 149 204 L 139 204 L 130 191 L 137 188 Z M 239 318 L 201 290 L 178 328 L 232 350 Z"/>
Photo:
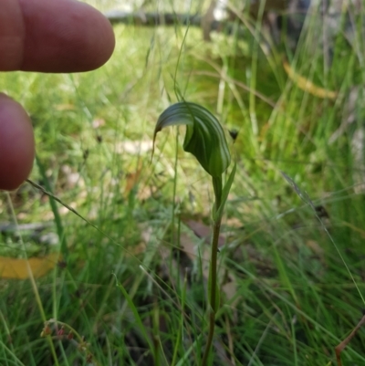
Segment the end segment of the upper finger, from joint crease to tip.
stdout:
<path fill-rule="evenodd" d="M 105 64 L 112 55 L 113 28 L 92 6 L 75 0 L 20 0 L 19 4 L 26 28 L 21 69 L 89 71 Z"/>

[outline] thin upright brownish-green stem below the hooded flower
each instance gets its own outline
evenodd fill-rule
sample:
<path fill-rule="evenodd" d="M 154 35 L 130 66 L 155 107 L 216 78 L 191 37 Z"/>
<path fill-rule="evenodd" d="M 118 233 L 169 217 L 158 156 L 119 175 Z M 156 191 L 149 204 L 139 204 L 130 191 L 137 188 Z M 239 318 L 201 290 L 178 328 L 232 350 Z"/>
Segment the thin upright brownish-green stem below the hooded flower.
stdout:
<path fill-rule="evenodd" d="M 214 195 L 215 195 L 215 204 L 214 204 L 214 212 L 218 211 L 220 205 L 222 204 L 222 177 L 213 177 L 213 187 L 214 187 Z M 217 303 L 217 255 L 218 255 L 218 240 L 219 234 L 221 232 L 221 222 L 222 215 L 219 215 L 214 221 L 213 227 L 213 238 L 212 238 L 212 252 L 211 252 L 211 262 L 209 264 L 209 280 L 208 280 L 208 288 L 210 289 L 209 293 L 209 332 L 208 339 L 206 341 L 205 350 L 203 353 L 202 365 L 206 366 L 209 353 L 212 347 L 213 337 L 214 337 L 214 327 L 215 327 L 215 314 L 219 307 Z"/>

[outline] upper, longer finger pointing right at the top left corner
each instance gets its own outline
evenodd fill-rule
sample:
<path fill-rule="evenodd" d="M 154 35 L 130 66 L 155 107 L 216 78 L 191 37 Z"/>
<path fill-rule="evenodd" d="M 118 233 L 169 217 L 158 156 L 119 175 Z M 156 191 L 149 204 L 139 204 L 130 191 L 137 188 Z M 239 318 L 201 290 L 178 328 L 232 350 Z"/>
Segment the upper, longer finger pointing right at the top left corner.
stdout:
<path fill-rule="evenodd" d="M 89 5 L 74 0 L 0 2 L 1 70 L 87 71 L 99 68 L 113 52 L 110 22 Z"/>

